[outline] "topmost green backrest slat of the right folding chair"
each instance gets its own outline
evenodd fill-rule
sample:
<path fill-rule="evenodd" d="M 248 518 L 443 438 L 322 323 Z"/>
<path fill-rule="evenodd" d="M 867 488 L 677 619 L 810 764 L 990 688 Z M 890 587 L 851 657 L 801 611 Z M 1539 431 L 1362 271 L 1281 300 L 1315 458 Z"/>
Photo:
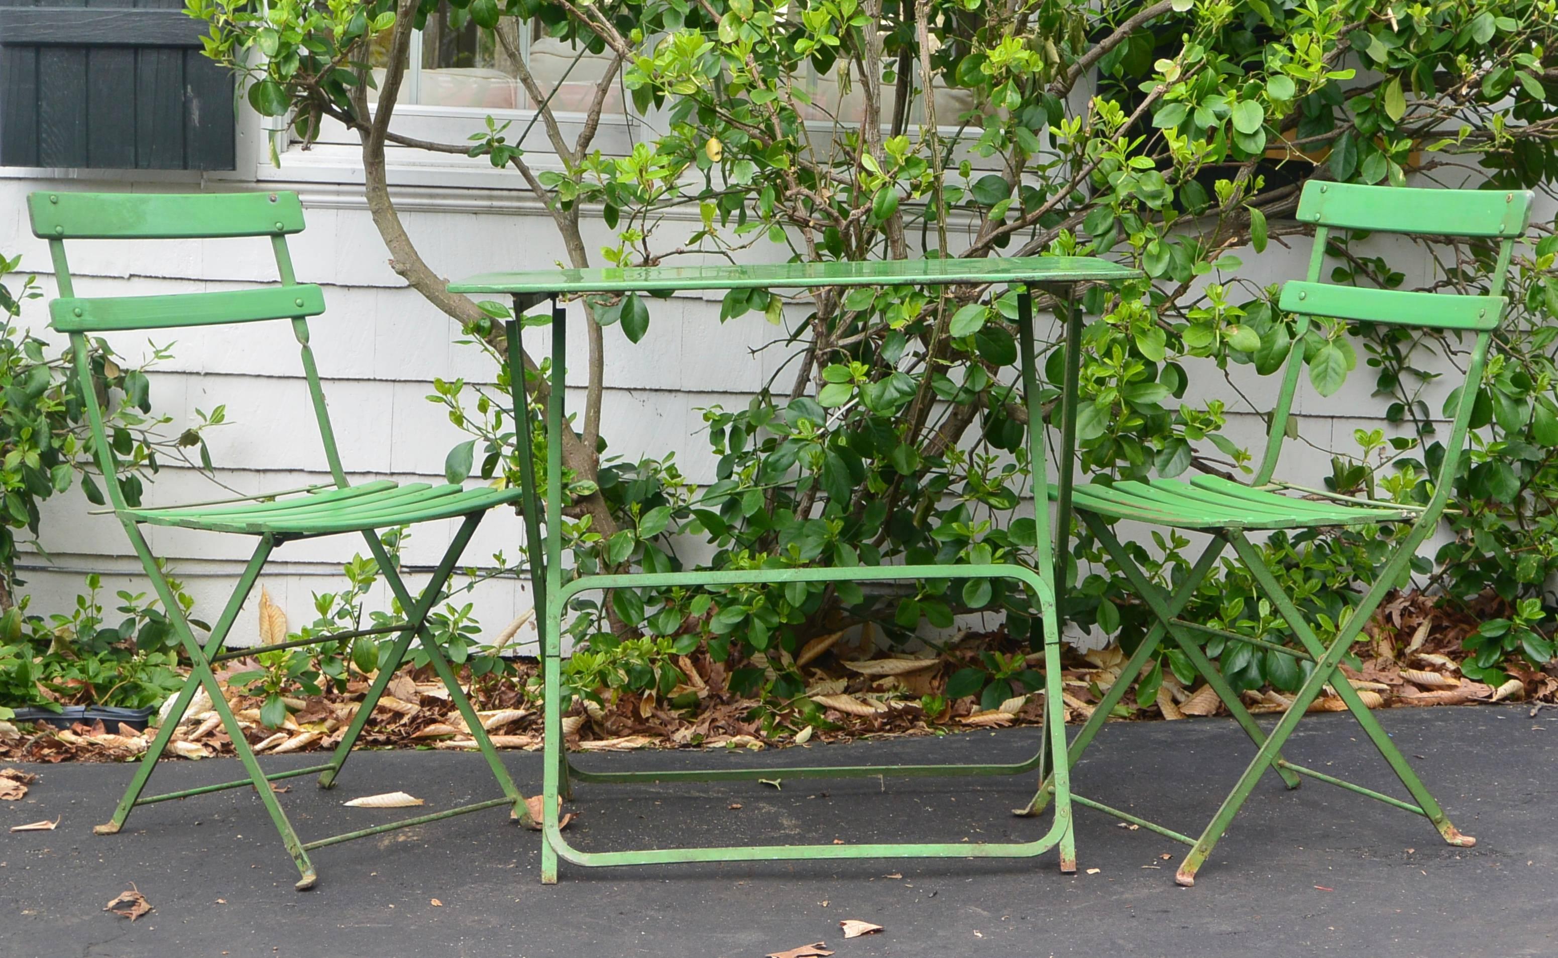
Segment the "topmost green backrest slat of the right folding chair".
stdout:
<path fill-rule="evenodd" d="M 1298 221 L 1335 229 L 1452 237 L 1521 237 L 1530 226 L 1525 190 L 1424 190 L 1307 182 Z"/>

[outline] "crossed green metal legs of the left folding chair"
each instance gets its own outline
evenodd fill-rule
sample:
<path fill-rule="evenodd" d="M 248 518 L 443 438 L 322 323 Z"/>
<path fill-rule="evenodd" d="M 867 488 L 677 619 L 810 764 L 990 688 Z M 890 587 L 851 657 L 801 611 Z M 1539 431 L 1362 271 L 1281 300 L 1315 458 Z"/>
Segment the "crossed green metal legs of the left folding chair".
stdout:
<path fill-rule="evenodd" d="M 148 746 L 146 754 L 142 757 L 140 765 L 129 782 L 129 787 L 125 790 L 125 796 L 120 799 L 118 807 L 114 810 L 114 818 L 108 824 L 97 826 L 93 830 L 98 835 L 112 835 L 118 832 L 120 827 L 123 827 L 125 819 L 129 818 L 131 810 L 139 805 L 150 805 L 168 799 L 182 799 L 193 794 L 204 794 L 210 791 L 223 791 L 227 788 L 241 788 L 251 785 L 259 793 L 260 802 L 265 804 L 265 810 L 270 812 L 271 821 L 276 824 L 276 830 L 280 833 L 282 843 L 287 846 L 287 852 L 298 865 L 298 871 L 302 875 L 296 885 L 298 889 L 305 889 L 312 888 L 316 880 L 316 872 L 313 863 L 308 860 L 308 852 L 318 847 L 337 844 L 341 841 L 351 841 L 352 838 L 377 835 L 380 832 L 388 832 L 393 829 L 402 829 L 408 826 L 438 821 L 442 818 L 450 818 L 467 812 L 492 808 L 497 805 L 509 805 L 513 808 L 511 818 L 517 818 L 527 826 L 531 824 L 530 815 L 525 808 L 523 796 L 514 785 L 514 780 L 509 777 L 508 770 L 503 768 L 503 763 L 499 757 L 497 749 L 492 745 L 492 740 L 488 738 L 486 732 L 481 727 L 481 721 L 475 713 L 475 709 L 471 706 L 471 699 L 466 698 L 464 690 L 460 689 L 460 682 L 455 678 L 453 668 L 449 665 L 449 660 L 444 657 L 444 653 L 438 646 L 438 642 L 427 629 L 427 617 L 433 611 L 438 597 L 442 593 L 444 584 L 449 581 L 449 576 L 455 570 L 455 564 L 460 561 L 460 553 L 464 551 L 464 547 L 471 541 L 471 534 L 475 531 L 475 527 L 480 520 L 481 520 L 481 512 L 474 512 L 464 517 L 464 522 L 460 525 L 460 531 L 455 534 L 453 542 L 450 542 L 449 550 L 444 553 L 442 561 L 439 561 L 438 569 L 433 572 L 432 579 L 422 590 L 421 598 L 414 598 L 411 592 L 405 587 L 405 583 L 396 572 L 394 564 L 390 561 L 388 553 L 379 542 L 379 536 L 371 530 L 363 533 L 363 537 L 368 541 L 368 547 L 372 551 L 374 559 L 379 561 L 379 569 L 383 573 L 385 581 L 388 581 L 390 589 L 400 601 L 400 608 L 407 611 L 407 622 L 404 626 L 390 626 L 385 629 L 363 631 L 363 632 L 396 631 L 399 632 L 399 637 L 396 639 L 390 656 L 383 660 L 377 678 L 369 687 L 368 695 L 363 698 L 361 706 L 352 717 L 352 721 L 347 726 L 346 734 L 343 735 L 340 745 L 337 746 L 330 762 L 326 765 L 293 768 L 288 771 L 279 771 L 271 774 L 265 774 L 260 770 L 254 749 L 249 746 L 248 738 L 245 738 L 243 729 L 238 726 L 238 720 L 232 713 L 232 707 L 227 704 L 221 685 L 217 682 L 217 676 L 212 671 L 212 665 L 215 662 L 252 654 L 252 650 L 223 653 L 221 648 L 223 642 L 227 637 L 227 632 L 232 629 L 232 623 L 237 618 L 238 611 L 243 608 L 245 600 L 254 589 L 254 583 L 259 578 L 260 570 L 265 567 L 265 562 L 270 558 L 271 550 L 279 544 L 277 537 L 273 534 L 260 536 L 260 542 L 256 547 L 254 555 L 249 559 L 248 565 L 245 567 L 243 575 L 240 576 L 238 584 L 232 592 L 232 597 L 227 600 L 227 604 L 223 609 L 221 617 L 212 628 L 210 637 L 206 640 L 206 645 L 201 646 L 199 642 L 196 642 L 195 632 L 190 629 L 189 622 L 179 612 L 179 606 L 174 601 L 173 590 L 168 587 L 167 578 L 157 567 L 156 559 L 153 559 L 151 550 L 146 545 L 146 541 L 142 536 L 140 530 L 136 527 L 136 523 L 125 522 L 131 544 L 134 545 L 136 553 L 140 556 L 142 565 L 145 567 L 146 575 L 151 578 L 153 589 L 156 589 L 157 597 L 162 600 L 164 609 L 167 609 L 168 622 L 171 623 L 174 634 L 179 639 L 179 643 L 184 646 L 184 651 L 189 654 L 192 668 L 189 681 L 185 681 L 184 689 L 179 690 L 179 695 L 173 703 L 171 712 L 162 723 L 162 727 L 157 729 L 156 738 Z M 474 805 L 463 805 L 458 808 L 449 808 L 432 815 L 421 815 L 418 818 L 410 818 L 397 822 L 374 826 L 371 829 L 361 829 L 357 832 L 347 832 L 344 835 L 332 835 L 329 838 L 319 838 L 307 843 L 302 841 L 301 838 L 298 838 L 298 832 L 293 829 L 291 822 L 287 819 L 287 813 L 280 807 L 280 802 L 276 799 L 276 793 L 271 788 L 271 782 L 321 773 L 319 774 L 321 788 L 329 788 L 335 784 L 335 777 L 337 774 L 340 774 L 341 766 L 346 763 L 346 759 L 351 754 L 352 746 L 357 743 L 358 735 L 361 735 L 363 726 L 368 723 L 369 713 L 372 713 L 374 706 L 377 706 L 380 696 L 388 687 L 390 678 L 405 660 L 405 654 L 407 651 L 410 651 L 413 639 L 421 639 L 422 648 L 427 653 L 428 659 L 432 660 L 433 668 L 438 671 L 439 679 L 442 679 L 444 685 L 449 689 L 450 699 L 455 703 L 455 707 L 460 709 L 460 715 L 464 718 L 466 727 L 471 729 L 471 737 L 475 738 L 478 748 L 481 749 L 483 757 L 488 762 L 488 766 L 492 770 L 492 776 L 499 780 L 499 785 L 503 790 L 503 798 L 488 799 L 485 802 L 477 802 Z M 324 636 L 307 642 L 299 642 L 296 645 L 321 643 L 333 640 L 337 640 L 337 637 Z M 198 689 L 206 689 L 206 693 L 210 696 L 212 709 L 215 709 L 215 712 L 221 717 L 221 724 L 227 731 L 227 737 L 232 740 L 232 748 L 238 754 L 238 760 L 243 762 L 243 768 L 245 771 L 248 771 L 249 777 L 238 779 L 235 782 L 221 782 L 218 785 L 203 785 L 199 788 L 185 788 L 182 791 L 170 791 L 165 794 L 140 798 L 140 793 L 146 785 L 146 780 L 151 777 L 151 773 L 156 768 L 157 759 L 162 755 L 162 752 L 171 741 L 173 732 L 178 727 L 179 721 L 184 718 L 185 710 L 189 710 L 190 703 L 193 701 L 195 692 Z"/>

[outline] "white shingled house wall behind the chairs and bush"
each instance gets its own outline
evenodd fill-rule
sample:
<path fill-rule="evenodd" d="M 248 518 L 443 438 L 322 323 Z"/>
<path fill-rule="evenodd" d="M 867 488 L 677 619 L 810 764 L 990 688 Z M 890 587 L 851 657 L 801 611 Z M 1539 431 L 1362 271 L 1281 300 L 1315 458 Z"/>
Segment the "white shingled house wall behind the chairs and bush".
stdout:
<path fill-rule="evenodd" d="M 477 347 L 458 340 L 460 330 L 419 294 L 405 288 L 390 269 L 386 251 L 361 198 L 361 171 L 355 151 L 344 145 L 291 150 L 273 167 L 260 148 L 263 132 L 249 122 L 241 129 L 237 174 L 98 174 L 90 171 L 0 168 L 0 249 L 23 254 L 23 269 L 39 273 L 53 296 L 48 254 L 26 224 L 25 196 L 31 190 L 231 190 L 243 187 L 298 190 L 308 227 L 291 241 L 301 282 L 324 287 L 329 312 L 313 321 L 313 346 L 326 380 L 341 453 L 354 480 L 396 478 L 442 481 L 447 450 L 464 436 L 449 422 L 442 407 L 425 397 L 438 379 L 489 383 L 494 366 Z M 527 199 L 516 174 L 492 170 L 485 160 L 453 160 L 399 153 L 391 164 L 396 201 L 410 235 L 439 274 L 450 279 L 503 268 L 545 268 L 564 257 L 550 220 Z M 1547 215 L 1547 213 L 1544 213 Z M 676 223 L 665 235 L 676 235 Z M 696 229 L 687 223 L 686 231 Z M 587 241 L 600 246 L 609 232 L 589 220 Z M 79 294 L 151 294 L 195 290 L 243 288 L 271 280 L 274 263 L 265 241 L 78 241 L 69 245 Z M 759 251 L 754 260 L 777 251 Z M 1243 251 L 1237 276 L 1265 285 L 1299 276 L 1307 263 L 1307 240 L 1284 249 L 1273 243 L 1264 255 Z M 1408 274 L 1408 285 L 1427 269 L 1426 254 L 1405 249 L 1394 257 Z M 1251 287 L 1253 291 L 1253 287 Z M 606 394 L 603 433 L 609 455 L 675 452 L 690 481 L 712 481 L 714 458 L 701 431 L 698 410 L 714 403 L 745 403 L 749 389 L 779 371 L 787 350 L 779 330 L 756 315 L 718 324 L 718 293 L 684 293 L 651 304 L 650 332 L 639 344 L 625 340 L 620 327 L 606 329 Z M 583 316 L 570 313 L 569 350 L 584 357 Z M 802 315 L 798 310 L 791 322 Z M 26 307 L 23 322 L 45 332 L 42 302 Z M 1050 318 L 1041 318 L 1053 336 Z M 544 349 L 545 330 L 527 332 Z M 226 403 L 229 425 L 207 436 L 212 460 L 223 480 L 240 492 L 294 488 L 326 481 L 296 343 L 287 324 L 251 324 L 220 330 L 179 330 L 153 336 L 173 341 L 173 358 L 160 363 L 151 379 L 154 410 L 174 424 L 193 417 L 193 410 Z M 145 354 L 146 338 L 114 335 L 109 341 L 132 361 Z M 1254 403 L 1270 400 L 1274 380 L 1259 380 L 1248 369 L 1231 371 L 1232 385 Z M 569 372 L 570 402 L 578 407 L 576 386 L 584 382 L 583 363 Z M 1292 481 L 1320 484 L 1329 474 L 1329 455 L 1318 450 L 1351 450 L 1352 430 L 1376 428 L 1384 403 L 1371 397 L 1373 377 L 1365 368 L 1329 399 L 1315 396 L 1307 383 L 1295 405 L 1304 442 L 1290 442 L 1281 474 Z M 1209 363 L 1192 375 L 1190 397 L 1221 396 L 1234 410 L 1231 436 L 1256 450 L 1264 442 L 1264 422 L 1239 402 L 1223 375 Z M 1443 389 L 1430 393 L 1436 411 Z M 173 503 L 218 498 L 223 489 L 199 474 L 167 464 L 146 500 Z M 106 593 L 117 589 L 146 590 L 139 565 L 117 522 L 93 516 L 79 491 L 59 495 L 44 508 L 42 545 L 47 558 L 23 559 L 26 592 L 34 612 L 64 611 L 81 589 L 86 572 L 104 573 Z M 425 573 L 452 534 L 452 523 L 418 527 L 407 548 L 413 570 Z M 243 559 L 246 541 L 189 530 L 151 528 L 157 555 L 167 556 L 198 609 L 215 618 Z M 494 511 L 478 530 L 466 556 L 486 564 L 489 556 L 517 553 L 522 528 L 516 516 Z M 360 539 L 335 536 L 294 542 L 280 548 L 262 584 L 293 625 L 313 618 L 316 592 L 340 587 L 340 564 L 361 551 Z M 413 576 L 418 578 L 418 576 Z M 386 590 L 374 597 L 388 603 Z M 257 593 L 256 593 L 257 595 Z M 530 608 L 525 581 L 483 584 L 472 597 L 488 634 Z M 238 620 L 234 643 L 256 640 L 252 606 Z M 117 601 L 106 603 L 109 608 Z M 520 640 L 533 640 L 533 626 Z"/>

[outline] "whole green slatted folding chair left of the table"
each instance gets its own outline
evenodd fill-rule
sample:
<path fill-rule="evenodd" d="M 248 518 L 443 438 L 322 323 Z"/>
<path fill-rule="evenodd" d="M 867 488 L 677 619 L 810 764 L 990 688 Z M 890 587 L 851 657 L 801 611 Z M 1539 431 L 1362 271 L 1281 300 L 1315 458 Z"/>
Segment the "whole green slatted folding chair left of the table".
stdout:
<path fill-rule="evenodd" d="M 511 815 L 525 824 L 530 816 L 523 796 L 514 787 L 513 779 L 503 768 L 497 749 L 481 729 L 475 709 L 460 689 L 453 668 L 444 657 L 438 642 L 427 629 L 427 617 L 432 612 L 444 584 L 447 583 L 460 553 L 471 541 L 481 516 L 492 506 L 514 502 L 522 492 L 519 489 L 463 489 L 453 484 L 430 486 L 427 483 L 399 484 L 393 481 L 371 481 L 354 486 L 347 481 L 341 467 L 341 456 L 335 447 L 335 433 L 330 428 L 330 417 L 326 410 L 324 393 L 319 386 L 319 374 L 315 368 L 313 350 L 308 347 L 308 316 L 324 312 L 324 293 L 319 287 L 298 284 L 293 276 L 291 257 L 287 251 L 287 237 L 301 232 L 302 206 L 296 193 L 231 193 L 231 195 L 114 195 L 114 193 L 31 193 L 28 209 L 33 217 L 33 234 L 48 240 L 53 255 L 55 276 L 59 284 L 59 299 L 48 304 L 51 326 L 70 336 L 75 352 L 75 366 L 79 394 L 87 410 L 92 428 L 92 447 L 103 469 L 108 497 L 114 506 L 114 514 L 125 525 L 125 533 L 140 558 L 153 589 L 162 600 L 168 622 L 178 636 L 179 643 L 190 659 L 190 678 L 179 692 L 162 727 L 145 757 L 136 768 L 136 774 L 125 790 L 114 810 L 114 818 L 108 824 L 98 826 L 98 835 L 112 835 L 123 827 L 131 810 L 139 805 L 150 805 L 192 794 L 221 791 L 224 788 L 252 787 L 271 813 L 276 830 L 280 832 L 287 851 L 302 879 L 298 888 L 312 888 L 316 879 L 315 868 L 308 860 L 308 852 L 327 844 L 363 838 L 393 829 L 418 826 L 453 815 L 478 812 L 499 805 L 509 805 Z M 78 298 L 73 291 L 70 266 L 65 263 L 64 240 L 173 240 L 173 238 L 227 238 L 227 237 L 270 237 L 276 254 L 276 266 L 280 273 L 277 285 L 240 290 L 234 293 L 182 293 L 171 296 L 114 296 L 114 298 Z M 120 486 L 117 470 L 118 463 L 114 446 L 103 431 L 103 413 L 98 407 L 98 375 L 93 371 L 92 354 L 87 349 L 87 336 L 117 330 L 170 329 L 193 326 L 220 326 L 227 322 L 256 322 L 260 319 L 291 319 L 293 333 L 302 349 L 302 369 L 308 380 L 308 394 L 313 402 L 313 413 L 319 425 L 319 438 L 324 441 L 324 455 L 330 464 L 332 484 L 308 486 L 304 489 L 288 489 L 285 492 L 229 498 L 220 502 L 193 503 L 185 506 L 143 506 L 129 502 Z M 136 497 L 139 500 L 139 497 Z M 458 531 L 444 553 L 442 561 L 428 579 L 421 597 L 411 593 L 394 562 L 386 555 L 379 539 L 379 530 L 396 528 L 414 522 L 458 517 Z M 168 525 L 213 533 L 232 533 L 254 536 L 257 544 L 249 558 L 238 584 L 221 611 L 217 625 L 212 628 L 206 643 L 195 639 L 187 618 L 179 612 L 179 604 L 173 598 L 168 581 L 157 567 L 156 558 L 146 544 L 140 527 Z M 237 659 L 249 651 L 223 651 L 223 640 L 227 637 L 245 598 L 254 587 L 260 569 L 271 556 L 271 551 L 294 539 L 312 539 L 315 536 L 332 536 L 338 533 L 360 533 L 368 542 L 368 550 L 379 562 L 379 570 L 390 584 L 400 608 L 405 609 L 404 625 L 352 629 L 330 636 L 316 636 L 296 642 L 284 642 L 268 646 L 270 650 L 316 645 L 323 642 L 338 642 L 358 636 L 374 636 L 397 632 L 390 656 L 382 659 L 379 674 L 368 690 L 366 698 L 352 717 L 344 737 L 335 748 L 335 754 L 326 765 L 308 768 L 293 768 L 287 771 L 265 774 L 243 737 L 243 729 L 234 718 L 227 699 L 212 673 L 212 665 L 229 659 Z M 396 668 L 405 659 L 413 639 L 421 639 L 422 650 L 432 660 L 438 676 L 449 689 L 449 695 L 471 729 L 472 738 L 486 757 L 492 776 L 497 777 L 503 790 L 503 798 L 450 808 L 433 815 L 375 826 L 346 835 L 333 835 L 316 841 L 301 841 L 287 821 L 285 812 L 271 790 L 271 782 L 319 773 L 319 787 L 329 788 L 335 784 L 346 757 L 363 731 L 363 724 L 372 713 L 374 706 L 383 695 L 385 687 Z M 246 779 L 223 782 L 220 785 L 204 785 L 167 794 L 140 798 L 146 779 L 151 777 L 157 759 L 168 746 L 173 729 L 195 698 L 195 690 L 204 687 L 210 695 L 212 707 L 221 717 L 232 748 L 238 754 L 248 771 Z"/>

